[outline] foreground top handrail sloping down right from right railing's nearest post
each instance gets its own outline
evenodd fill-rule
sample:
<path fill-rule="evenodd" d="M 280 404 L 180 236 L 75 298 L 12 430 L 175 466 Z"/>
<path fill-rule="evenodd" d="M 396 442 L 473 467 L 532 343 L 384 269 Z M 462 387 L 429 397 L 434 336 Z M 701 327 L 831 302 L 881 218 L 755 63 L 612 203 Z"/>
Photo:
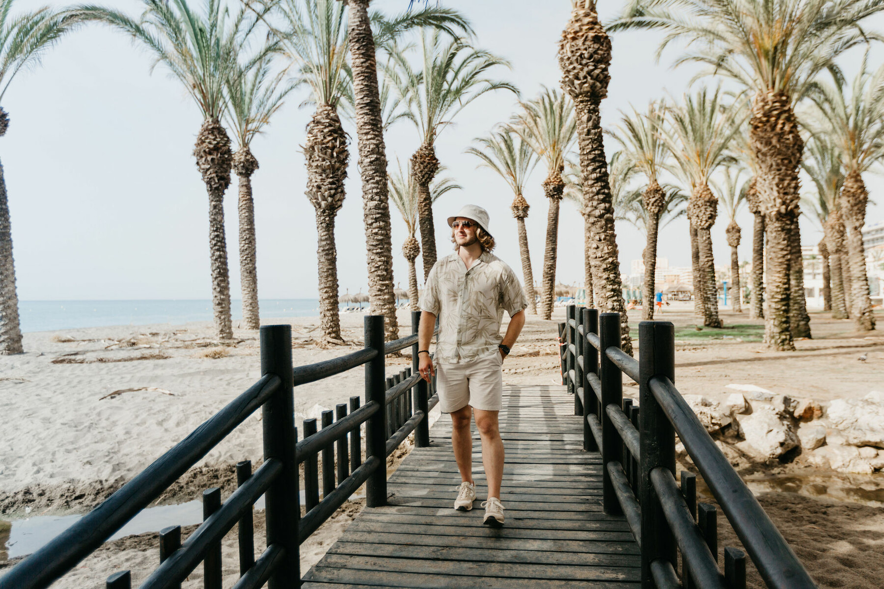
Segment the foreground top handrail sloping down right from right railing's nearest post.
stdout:
<path fill-rule="evenodd" d="M 648 384 L 765 583 L 783 588 L 816 586 L 672 381 L 658 376 Z"/>

